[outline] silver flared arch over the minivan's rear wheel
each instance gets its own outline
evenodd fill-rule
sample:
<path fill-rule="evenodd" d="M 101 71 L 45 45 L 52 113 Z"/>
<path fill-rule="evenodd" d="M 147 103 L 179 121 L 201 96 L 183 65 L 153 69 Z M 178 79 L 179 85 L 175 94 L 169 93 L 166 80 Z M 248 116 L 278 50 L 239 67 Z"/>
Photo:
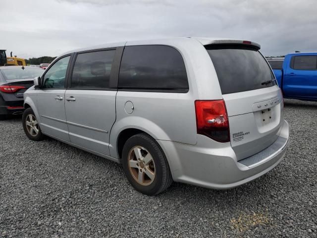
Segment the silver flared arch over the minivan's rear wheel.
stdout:
<path fill-rule="evenodd" d="M 171 140 L 166 132 L 153 121 L 137 116 L 125 117 L 117 120 L 111 128 L 109 138 L 109 152 L 111 157 L 119 158 L 117 138 L 123 130 L 130 128 L 142 130 L 157 140 Z"/>

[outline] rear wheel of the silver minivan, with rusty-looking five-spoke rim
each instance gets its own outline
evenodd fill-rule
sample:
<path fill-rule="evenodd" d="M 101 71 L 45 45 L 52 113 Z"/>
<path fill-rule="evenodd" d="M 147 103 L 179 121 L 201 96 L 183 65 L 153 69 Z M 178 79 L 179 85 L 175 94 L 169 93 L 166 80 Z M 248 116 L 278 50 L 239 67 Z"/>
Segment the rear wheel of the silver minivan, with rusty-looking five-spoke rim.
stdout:
<path fill-rule="evenodd" d="M 153 163 L 149 162 L 151 158 Z M 173 182 L 162 149 L 155 139 L 145 133 L 133 135 L 125 142 L 122 150 L 122 166 L 131 185 L 146 195 L 159 194 Z M 139 177 L 140 173 L 141 177 Z"/>

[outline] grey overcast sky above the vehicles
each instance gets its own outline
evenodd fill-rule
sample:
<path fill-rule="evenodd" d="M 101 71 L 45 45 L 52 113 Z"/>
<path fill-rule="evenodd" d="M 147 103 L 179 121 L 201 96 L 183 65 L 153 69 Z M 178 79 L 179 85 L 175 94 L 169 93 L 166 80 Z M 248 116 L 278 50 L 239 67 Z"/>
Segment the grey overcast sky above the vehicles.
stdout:
<path fill-rule="evenodd" d="M 23 58 L 180 36 L 259 43 L 265 56 L 317 51 L 316 0 L 0 0 L 0 49 Z"/>

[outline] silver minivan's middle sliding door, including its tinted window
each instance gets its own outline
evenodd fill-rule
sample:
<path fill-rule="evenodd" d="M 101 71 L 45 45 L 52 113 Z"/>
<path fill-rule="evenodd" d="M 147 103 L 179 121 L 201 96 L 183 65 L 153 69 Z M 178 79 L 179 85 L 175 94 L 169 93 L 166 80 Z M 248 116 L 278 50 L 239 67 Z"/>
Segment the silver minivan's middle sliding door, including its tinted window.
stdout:
<path fill-rule="evenodd" d="M 104 155 L 115 121 L 116 89 L 109 87 L 114 54 L 113 49 L 79 53 L 65 93 L 70 141 Z"/>

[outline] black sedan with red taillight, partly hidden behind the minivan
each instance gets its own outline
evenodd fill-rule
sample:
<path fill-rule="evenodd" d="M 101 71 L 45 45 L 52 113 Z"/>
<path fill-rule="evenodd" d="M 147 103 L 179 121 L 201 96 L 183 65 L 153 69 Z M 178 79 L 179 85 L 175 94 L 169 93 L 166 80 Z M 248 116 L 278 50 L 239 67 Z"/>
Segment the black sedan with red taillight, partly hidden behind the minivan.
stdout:
<path fill-rule="evenodd" d="M 34 84 L 34 77 L 41 76 L 43 72 L 38 67 L 0 67 L 0 119 L 23 113 L 23 93 Z"/>

